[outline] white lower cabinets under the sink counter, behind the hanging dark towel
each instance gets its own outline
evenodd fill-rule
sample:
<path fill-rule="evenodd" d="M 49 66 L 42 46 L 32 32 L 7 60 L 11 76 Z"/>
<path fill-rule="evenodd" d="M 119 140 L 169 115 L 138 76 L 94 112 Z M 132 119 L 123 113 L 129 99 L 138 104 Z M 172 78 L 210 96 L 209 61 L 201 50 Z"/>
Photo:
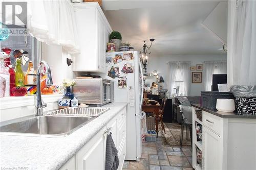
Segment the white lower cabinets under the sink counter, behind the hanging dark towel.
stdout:
<path fill-rule="evenodd" d="M 74 157 L 61 167 L 61 170 L 103 170 L 105 169 L 106 137 L 108 130 L 118 150 L 119 166 L 122 169 L 126 155 L 126 108 L 123 108 L 110 122 L 84 145 Z"/>

